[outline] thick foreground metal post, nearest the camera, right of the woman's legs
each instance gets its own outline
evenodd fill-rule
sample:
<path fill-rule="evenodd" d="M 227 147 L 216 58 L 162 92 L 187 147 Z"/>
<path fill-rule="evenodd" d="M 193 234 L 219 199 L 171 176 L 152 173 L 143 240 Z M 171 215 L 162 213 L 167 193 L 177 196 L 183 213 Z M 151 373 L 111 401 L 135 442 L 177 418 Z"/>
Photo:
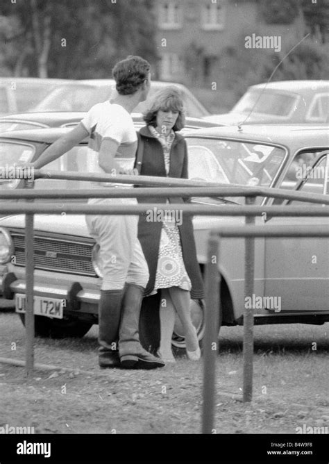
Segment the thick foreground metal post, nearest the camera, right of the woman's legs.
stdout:
<path fill-rule="evenodd" d="M 219 333 L 219 236 L 208 239 L 208 260 L 205 269 L 205 336 L 203 338 L 203 420 L 202 433 L 212 433 L 214 426 L 214 395 Z"/>

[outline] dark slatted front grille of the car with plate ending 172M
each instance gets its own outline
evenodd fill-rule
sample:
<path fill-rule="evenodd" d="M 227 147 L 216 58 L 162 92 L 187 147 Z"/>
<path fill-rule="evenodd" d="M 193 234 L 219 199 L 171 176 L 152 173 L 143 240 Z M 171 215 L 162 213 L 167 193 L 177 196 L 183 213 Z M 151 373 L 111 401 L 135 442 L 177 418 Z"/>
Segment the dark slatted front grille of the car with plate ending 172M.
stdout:
<path fill-rule="evenodd" d="M 25 235 L 10 234 L 15 247 L 15 265 L 25 266 Z M 95 277 L 92 265 L 93 243 L 76 242 L 36 235 L 34 238 L 35 269 Z"/>

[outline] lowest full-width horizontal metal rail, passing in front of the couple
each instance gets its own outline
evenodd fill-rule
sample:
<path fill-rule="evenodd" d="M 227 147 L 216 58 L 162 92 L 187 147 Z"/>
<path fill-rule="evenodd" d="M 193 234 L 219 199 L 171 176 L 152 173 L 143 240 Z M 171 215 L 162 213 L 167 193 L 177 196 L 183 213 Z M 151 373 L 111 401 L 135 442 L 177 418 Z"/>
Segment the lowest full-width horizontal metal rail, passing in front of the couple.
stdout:
<path fill-rule="evenodd" d="M 6 214 L 108 214 L 108 215 L 141 215 L 150 211 L 179 210 L 186 215 L 197 216 L 329 216 L 328 206 L 206 206 L 196 204 L 136 204 L 136 205 L 99 205 L 99 204 L 58 204 L 58 203 L 33 203 L 33 204 L 1 204 L 0 213 Z"/>

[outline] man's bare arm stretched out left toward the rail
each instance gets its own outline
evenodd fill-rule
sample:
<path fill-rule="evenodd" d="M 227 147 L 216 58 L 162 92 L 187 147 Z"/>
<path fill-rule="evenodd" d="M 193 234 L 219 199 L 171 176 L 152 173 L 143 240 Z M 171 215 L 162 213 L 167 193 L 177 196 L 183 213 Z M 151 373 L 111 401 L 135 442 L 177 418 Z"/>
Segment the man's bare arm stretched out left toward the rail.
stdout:
<path fill-rule="evenodd" d="M 40 158 L 33 163 L 33 167 L 35 167 L 35 169 L 40 169 L 40 167 L 51 163 L 51 161 L 56 160 L 71 148 L 75 147 L 76 144 L 86 138 L 87 135 L 88 131 L 85 129 L 85 126 L 83 126 L 83 124 L 78 124 L 72 131 L 62 135 L 62 137 L 44 150 Z"/>

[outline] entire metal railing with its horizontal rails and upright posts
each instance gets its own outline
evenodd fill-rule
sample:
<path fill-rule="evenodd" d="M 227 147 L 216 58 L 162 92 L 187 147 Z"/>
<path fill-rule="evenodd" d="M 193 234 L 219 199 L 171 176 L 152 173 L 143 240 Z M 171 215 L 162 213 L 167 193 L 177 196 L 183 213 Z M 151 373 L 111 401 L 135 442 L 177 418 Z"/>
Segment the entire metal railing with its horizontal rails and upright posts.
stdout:
<path fill-rule="evenodd" d="M 50 174 L 51 173 L 51 174 Z M 108 188 L 89 190 L 12 190 L 0 192 L 0 199 L 25 199 L 24 204 L 0 204 L 0 212 L 6 214 L 26 215 L 26 374 L 31 376 L 34 365 L 34 315 L 33 315 L 33 286 L 34 286 L 34 240 L 33 224 L 35 214 L 85 214 L 85 215 L 140 215 L 152 208 L 165 211 L 179 209 L 186 215 L 206 216 L 242 216 L 245 217 L 244 226 L 223 226 L 221 229 L 210 231 L 208 239 L 208 263 L 205 270 L 206 308 L 205 336 L 203 342 L 203 433 L 212 433 L 214 423 L 214 379 L 215 362 L 218 347 L 218 318 L 220 311 L 220 241 L 223 237 L 245 239 L 245 267 L 244 292 L 252 295 L 255 269 L 255 237 L 329 237 L 329 226 L 303 227 L 303 231 L 296 231 L 289 226 L 255 226 L 255 217 L 264 213 L 274 217 L 329 217 L 329 197 L 323 194 L 304 194 L 291 190 L 273 188 L 249 188 L 239 185 L 207 184 L 203 182 L 182 179 L 159 178 L 149 176 L 111 176 L 109 174 L 82 175 L 75 172 L 35 171 L 35 178 L 74 179 L 80 181 L 98 181 L 113 183 L 135 183 L 144 188 Z M 153 185 L 152 188 L 147 188 Z M 160 185 L 155 187 L 154 185 Z M 146 186 L 146 187 L 145 187 Z M 245 197 L 245 206 L 198 206 L 197 204 L 137 204 L 137 205 L 97 205 L 92 208 L 87 204 L 58 204 L 31 203 L 35 199 L 89 199 L 89 198 L 142 198 L 142 197 Z M 278 199 L 307 201 L 321 204 L 321 206 L 255 206 L 256 197 L 272 197 Z M 215 259 L 214 259 L 215 257 Z M 252 399 L 253 381 L 253 310 L 244 308 L 244 385 L 243 401 Z"/>

